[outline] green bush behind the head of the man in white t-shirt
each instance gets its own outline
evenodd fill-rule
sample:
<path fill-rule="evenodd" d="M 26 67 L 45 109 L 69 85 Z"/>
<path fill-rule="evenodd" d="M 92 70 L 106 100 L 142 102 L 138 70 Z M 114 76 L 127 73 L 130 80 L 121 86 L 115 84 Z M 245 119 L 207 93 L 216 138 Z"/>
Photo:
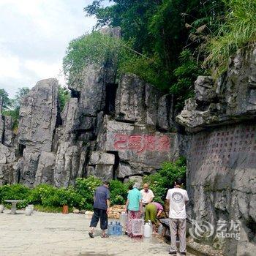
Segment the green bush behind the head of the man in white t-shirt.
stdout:
<path fill-rule="evenodd" d="M 164 162 L 162 168 L 150 176 L 144 176 L 143 181 L 148 183 L 154 192 L 154 200 L 164 203 L 167 189 L 173 187 L 177 178 L 186 180 L 186 159 L 181 157 L 176 162 Z"/>

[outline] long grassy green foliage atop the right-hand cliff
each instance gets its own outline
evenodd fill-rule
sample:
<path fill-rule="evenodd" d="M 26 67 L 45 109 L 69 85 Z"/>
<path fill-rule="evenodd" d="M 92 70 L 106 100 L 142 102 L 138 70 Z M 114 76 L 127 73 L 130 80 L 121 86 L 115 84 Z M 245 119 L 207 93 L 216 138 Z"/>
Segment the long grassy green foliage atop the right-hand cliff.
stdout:
<path fill-rule="evenodd" d="M 205 64 L 216 75 L 227 69 L 228 59 L 239 48 L 255 43 L 256 1 L 223 0 L 228 7 L 225 23 L 205 45 L 208 57 Z"/>

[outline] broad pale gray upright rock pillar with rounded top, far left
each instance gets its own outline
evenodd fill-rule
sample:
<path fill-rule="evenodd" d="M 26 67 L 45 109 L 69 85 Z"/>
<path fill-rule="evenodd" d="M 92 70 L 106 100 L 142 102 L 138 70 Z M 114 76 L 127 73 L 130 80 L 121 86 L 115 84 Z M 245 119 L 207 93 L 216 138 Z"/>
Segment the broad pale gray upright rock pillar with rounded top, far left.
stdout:
<path fill-rule="evenodd" d="M 20 105 L 19 143 L 51 151 L 57 120 L 58 81 L 39 81 Z"/>

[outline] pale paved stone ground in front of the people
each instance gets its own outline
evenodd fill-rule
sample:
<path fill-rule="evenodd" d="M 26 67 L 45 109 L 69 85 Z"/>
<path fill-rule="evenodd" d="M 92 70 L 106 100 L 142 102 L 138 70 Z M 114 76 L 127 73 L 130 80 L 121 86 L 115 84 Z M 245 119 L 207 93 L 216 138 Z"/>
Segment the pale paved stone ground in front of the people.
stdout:
<path fill-rule="evenodd" d="M 90 219 L 84 214 L 26 216 L 24 211 L 9 211 L 0 214 L 1 256 L 168 255 L 168 244 L 158 238 L 100 238 L 99 228 L 97 236 L 89 238 Z"/>

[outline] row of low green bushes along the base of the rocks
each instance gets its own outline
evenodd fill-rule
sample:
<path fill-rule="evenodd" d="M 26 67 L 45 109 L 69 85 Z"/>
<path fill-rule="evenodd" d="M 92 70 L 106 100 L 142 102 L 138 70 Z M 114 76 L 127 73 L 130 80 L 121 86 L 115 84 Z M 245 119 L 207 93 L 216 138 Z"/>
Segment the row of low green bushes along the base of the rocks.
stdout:
<path fill-rule="evenodd" d="M 156 195 L 155 200 L 162 202 L 162 196 L 176 178 L 184 178 L 186 173 L 186 161 L 181 158 L 174 163 L 165 162 L 162 169 L 150 176 L 145 176 L 144 181 L 150 184 Z M 110 181 L 110 203 L 124 204 L 127 200 L 129 186 L 135 181 L 123 183 L 118 180 Z M 75 187 L 56 188 L 48 184 L 40 184 L 33 189 L 22 184 L 4 185 L 0 187 L 0 203 L 4 200 L 25 200 L 19 207 L 34 204 L 43 211 L 57 211 L 63 205 L 74 206 L 92 210 L 94 205 L 94 192 L 102 184 L 99 178 L 89 176 L 88 178 L 77 178 Z"/>

